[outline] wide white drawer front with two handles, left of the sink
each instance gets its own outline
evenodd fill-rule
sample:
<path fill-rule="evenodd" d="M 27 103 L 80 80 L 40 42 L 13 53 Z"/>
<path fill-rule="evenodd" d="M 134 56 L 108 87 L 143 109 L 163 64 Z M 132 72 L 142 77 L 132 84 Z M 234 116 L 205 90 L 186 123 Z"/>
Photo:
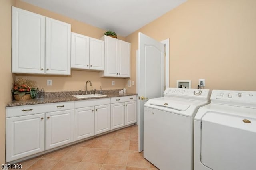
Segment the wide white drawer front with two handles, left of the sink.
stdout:
<path fill-rule="evenodd" d="M 73 101 L 6 107 L 6 118 L 68 109 L 74 109 Z"/>

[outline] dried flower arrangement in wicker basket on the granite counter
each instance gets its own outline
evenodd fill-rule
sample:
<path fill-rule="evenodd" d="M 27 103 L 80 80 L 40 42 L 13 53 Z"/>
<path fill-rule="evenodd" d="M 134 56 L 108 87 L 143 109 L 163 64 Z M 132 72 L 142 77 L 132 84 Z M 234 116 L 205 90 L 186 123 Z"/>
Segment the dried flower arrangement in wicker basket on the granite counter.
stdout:
<path fill-rule="evenodd" d="M 13 83 L 12 94 L 18 95 L 19 98 L 22 98 L 26 94 L 30 94 L 31 99 L 38 96 L 36 87 L 36 81 L 18 78 Z"/>

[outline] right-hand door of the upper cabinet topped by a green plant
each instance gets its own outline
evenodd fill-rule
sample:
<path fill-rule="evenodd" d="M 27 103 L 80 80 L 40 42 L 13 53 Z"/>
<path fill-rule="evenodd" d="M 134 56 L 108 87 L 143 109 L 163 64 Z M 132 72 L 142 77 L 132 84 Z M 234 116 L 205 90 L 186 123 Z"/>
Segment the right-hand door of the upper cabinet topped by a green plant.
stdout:
<path fill-rule="evenodd" d="M 130 77 L 131 44 L 118 40 L 118 76 Z"/>

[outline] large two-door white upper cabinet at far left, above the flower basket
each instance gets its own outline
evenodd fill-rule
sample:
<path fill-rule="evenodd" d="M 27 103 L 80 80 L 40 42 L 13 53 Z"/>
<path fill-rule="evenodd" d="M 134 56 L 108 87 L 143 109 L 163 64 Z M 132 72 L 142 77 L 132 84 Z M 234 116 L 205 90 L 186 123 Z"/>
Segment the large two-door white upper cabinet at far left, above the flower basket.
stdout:
<path fill-rule="evenodd" d="M 12 7 L 12 73 L 70 75 L 68 23 Z"/>

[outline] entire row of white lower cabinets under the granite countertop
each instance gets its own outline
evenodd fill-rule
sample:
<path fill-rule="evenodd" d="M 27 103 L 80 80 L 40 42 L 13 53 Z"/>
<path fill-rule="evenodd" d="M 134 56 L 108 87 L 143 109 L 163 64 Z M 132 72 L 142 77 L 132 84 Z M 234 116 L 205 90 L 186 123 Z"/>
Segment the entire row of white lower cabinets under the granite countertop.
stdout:
<path fill-rule="evenodd" d="M 6 107 L 6 162 L 136 121 L 136 95 Z"/>

